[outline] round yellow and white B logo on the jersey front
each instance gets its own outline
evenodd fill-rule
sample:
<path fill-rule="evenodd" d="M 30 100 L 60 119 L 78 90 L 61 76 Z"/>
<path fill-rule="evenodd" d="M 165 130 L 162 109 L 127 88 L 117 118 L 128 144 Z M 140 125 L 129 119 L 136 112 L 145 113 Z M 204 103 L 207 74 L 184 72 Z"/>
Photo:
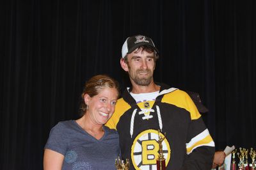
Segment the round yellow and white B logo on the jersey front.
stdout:
<path fill-rule="evenodd" d="M 160 135 L 163 134 L 160 133 Z M 131 159 L 135 169 L 156 169 L 156 158 L 159 155 L 158 140 L 158 131 L 153 129 L 141 132 L 134 139 L 131 148 Z M 164 139 L 162 144 L 167 166 L 170 160 L 171 149 L 167 139 Z"/>

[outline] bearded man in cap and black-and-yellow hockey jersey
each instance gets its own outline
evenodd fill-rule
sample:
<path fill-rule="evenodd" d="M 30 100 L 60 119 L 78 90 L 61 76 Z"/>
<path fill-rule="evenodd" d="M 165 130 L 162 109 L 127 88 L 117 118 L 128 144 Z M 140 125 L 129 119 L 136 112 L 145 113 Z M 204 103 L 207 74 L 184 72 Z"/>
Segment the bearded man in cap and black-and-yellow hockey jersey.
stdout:
<path fill-rule="evenodd" d="M 166 169 L 211 169 L 212 137 L 186 92 L 154 82 L 157 58 L 158 50 L 147 36 L 125 40 L 120 65 L 132 88 L 124 91 L 106 126 L 118 131 L 122 158 L 129 158 L 130 169 L 156 169 L 158 130 L 166 132 Z"/>

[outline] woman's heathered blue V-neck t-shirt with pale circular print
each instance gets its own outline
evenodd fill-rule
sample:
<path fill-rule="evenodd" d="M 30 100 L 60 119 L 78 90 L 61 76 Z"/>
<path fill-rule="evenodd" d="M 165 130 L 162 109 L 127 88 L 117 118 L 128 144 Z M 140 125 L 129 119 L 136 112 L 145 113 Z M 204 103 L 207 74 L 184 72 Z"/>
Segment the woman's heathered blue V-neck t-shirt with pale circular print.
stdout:
<path fill-rule="evenodd" d="M 103 128 L 105 133 L 97 140 L 75 120 L 61 121 L 52 128 L 45 149 L 65 156 L 62 169 L 115 169 L 115 159 L 120 155 L 118 133 Z"/>

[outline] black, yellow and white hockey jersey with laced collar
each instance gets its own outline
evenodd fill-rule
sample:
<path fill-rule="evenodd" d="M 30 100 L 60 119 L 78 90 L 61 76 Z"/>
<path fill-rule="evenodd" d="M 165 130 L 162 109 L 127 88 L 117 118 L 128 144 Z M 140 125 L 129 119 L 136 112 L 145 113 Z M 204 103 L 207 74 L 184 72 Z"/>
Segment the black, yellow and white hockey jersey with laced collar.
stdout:
<path fill-rule="evenodd" d="M 122 158 L 130 169 L 156 169 L 159 135 L 166 169 L 211 169 L 214 141 L 189 95 L 161 86 L 155 100 L 136 103 L 128 89 L 106 123 L 120 135 Z"/>

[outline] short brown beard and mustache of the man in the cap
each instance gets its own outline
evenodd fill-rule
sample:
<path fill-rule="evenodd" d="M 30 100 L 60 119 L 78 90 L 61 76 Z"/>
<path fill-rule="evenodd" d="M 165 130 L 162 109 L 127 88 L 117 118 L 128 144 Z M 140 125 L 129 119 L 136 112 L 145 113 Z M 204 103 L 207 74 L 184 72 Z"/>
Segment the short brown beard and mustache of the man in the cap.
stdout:
<path fill-rule="evenodd" d="M 147 77 L 140 75 L 140 72 L 147 72 L 148 75 Z M 143 78 L 140 78 L 143 77 Z M 134 81 L 136 84 L 140 85 L 140 86 L 148 86 L 150 84 L 150 82 L 152 82 L 152 73 L 150 70 L 136 70 L 136 73 L 134 76 L 131 77 L 132 81 Z"/>

